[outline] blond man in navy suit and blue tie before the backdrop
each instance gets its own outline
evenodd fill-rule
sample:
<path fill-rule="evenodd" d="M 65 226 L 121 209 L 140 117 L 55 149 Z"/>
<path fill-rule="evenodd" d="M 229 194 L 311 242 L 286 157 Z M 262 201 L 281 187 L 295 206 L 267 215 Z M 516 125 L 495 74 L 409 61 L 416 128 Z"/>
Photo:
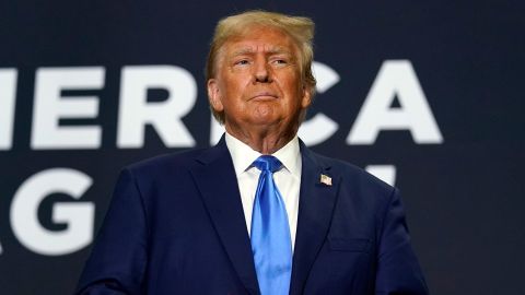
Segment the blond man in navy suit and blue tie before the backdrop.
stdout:
<path fill-rule="evenodd" d="M 296 137 L 313 28 L 219 22 L 207 86 L 225 135 L 124 169 L 78 294 L 428 294 L 398 191 Z"/>

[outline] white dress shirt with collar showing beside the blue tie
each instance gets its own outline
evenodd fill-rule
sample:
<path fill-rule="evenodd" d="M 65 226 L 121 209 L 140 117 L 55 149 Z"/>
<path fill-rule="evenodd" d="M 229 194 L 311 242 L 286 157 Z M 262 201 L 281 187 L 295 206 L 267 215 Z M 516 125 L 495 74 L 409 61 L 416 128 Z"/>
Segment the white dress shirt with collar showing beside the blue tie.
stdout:
<path fill-rule="evenodd" d="M 241 201 L 243 202 L 244 217 L 246 219 L 246 228 L 249 235 L 255 191 L 257 190 L 257 182 L 260 175 L 260 170 L 252 166 L 252 164 L 261 154 L 252 150 L 247 144 L 230 135 L 228 132 L 225 139 L 228 150 L 232 155 L 233 167 L 235 168 L 235 176 L 237 177 L 238 190 L 241 192 Z M 293 250 L 298 228 L 299 189 L 301 187 L 302 165 L 298 137 L 295 135 L 287 145 L 271 155 L 277 157 L 283 165 L 283 168 L 273 173 L 273 180 L 287 208 Z"/>

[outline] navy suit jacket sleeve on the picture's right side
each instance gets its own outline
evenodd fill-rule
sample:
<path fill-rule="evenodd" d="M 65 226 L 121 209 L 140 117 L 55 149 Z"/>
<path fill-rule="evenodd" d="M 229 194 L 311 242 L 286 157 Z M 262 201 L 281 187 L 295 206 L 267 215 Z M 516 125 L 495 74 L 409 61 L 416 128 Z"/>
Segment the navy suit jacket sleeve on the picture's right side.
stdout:
<path fill-rule="evenodd" d="M 376 295 L 429 294 L 418 259 L 410 246 L 405 212 L 397 189 L 385 210 L 380 237 Z"/>

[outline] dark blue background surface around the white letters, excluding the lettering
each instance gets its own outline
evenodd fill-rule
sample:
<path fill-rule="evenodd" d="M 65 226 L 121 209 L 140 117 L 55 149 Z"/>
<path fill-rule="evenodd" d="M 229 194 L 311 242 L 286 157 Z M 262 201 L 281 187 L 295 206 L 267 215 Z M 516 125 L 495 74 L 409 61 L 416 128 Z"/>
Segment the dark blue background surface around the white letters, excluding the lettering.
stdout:
<path fill-rule="evenodd" d="M 407 208 L 413 246 L 432 294 L 525 294 L 525 5 L 521 1 L 7 1 L 0 2 L 0 68 L 19 71 L 14 143 L 0 151 L 1 294 L 69 294 L 90 248 L 46 257 L 14 237 L 11 198 L 31 175 L 52 167 L 94 179 L 82 201 L 104 216 L 120 167 L 166 149 L 148 129 L 143 149 L 116 146 L 120 70 L 174 64 L 194 75 L 198 98 L 184 122 L 209 145 L 203 67 L 220 17 L 262 8 L 316 22 L 315 59 L 341 80 L 316 97 L 312 114 L 339 123 L 317 152 L 359 166 L 392 164 Z M 385 60 L 410 60 L 444 138 L 417 144 L 408 131 L 384 131 L 373 145 L 346 137 Z M 100 150 L 33 151 L 35 71 L 106 68 Z M 1 97 L 0 97 L 1 99 Z M 49 198 L 40 220 L 49 228 Z M 47 211 L 46 211 L 47 210 Z M 55 226 L 55 227 L 54 227 Z"/>

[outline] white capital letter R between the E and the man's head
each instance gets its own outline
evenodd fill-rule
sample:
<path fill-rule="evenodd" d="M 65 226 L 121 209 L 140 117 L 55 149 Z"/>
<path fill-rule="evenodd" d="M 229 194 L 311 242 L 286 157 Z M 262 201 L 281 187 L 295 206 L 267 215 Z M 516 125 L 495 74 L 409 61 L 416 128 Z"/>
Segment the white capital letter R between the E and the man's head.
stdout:
<path fill-rule="evenodd" d="M 195 105 L 197 83 L 175 66 L 125 67 L 118 116 L 118 148 L 142 148 L 145 125 L 155 128 L 168 148 L 194 146 L 195 140 L 180 120 Z M 148 103 L 148 90 L 163 88 L 168 97 Z"/>

